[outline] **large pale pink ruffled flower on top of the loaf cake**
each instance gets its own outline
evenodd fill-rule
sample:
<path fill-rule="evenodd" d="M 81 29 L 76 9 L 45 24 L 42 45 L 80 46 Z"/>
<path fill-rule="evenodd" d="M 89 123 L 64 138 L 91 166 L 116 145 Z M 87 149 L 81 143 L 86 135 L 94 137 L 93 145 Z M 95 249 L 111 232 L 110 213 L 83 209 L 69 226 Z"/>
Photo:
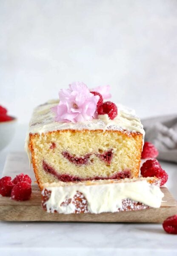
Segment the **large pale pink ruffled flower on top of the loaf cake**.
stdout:
<path fill-rule="evenodd" d="M 82 122 L 93 119 L 99 96 L 90 93 L 82 82 L 71 83 L 69 89 L 61 89 L 60 102 L 51 108 L 55 113 L 55 121 Z"/>

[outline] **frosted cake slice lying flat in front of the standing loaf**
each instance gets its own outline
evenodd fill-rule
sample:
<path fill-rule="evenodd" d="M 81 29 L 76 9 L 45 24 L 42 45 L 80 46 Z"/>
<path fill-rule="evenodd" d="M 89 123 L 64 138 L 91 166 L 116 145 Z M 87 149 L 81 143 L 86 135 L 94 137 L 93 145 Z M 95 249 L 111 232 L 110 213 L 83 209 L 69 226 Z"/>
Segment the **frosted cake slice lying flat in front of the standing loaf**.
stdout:
<path fill-rule="evenodd" d="M 42 185 L 48 213 L 103 213 L 159 208 L 163 198 L 158 178 L 125 178 Z"/>

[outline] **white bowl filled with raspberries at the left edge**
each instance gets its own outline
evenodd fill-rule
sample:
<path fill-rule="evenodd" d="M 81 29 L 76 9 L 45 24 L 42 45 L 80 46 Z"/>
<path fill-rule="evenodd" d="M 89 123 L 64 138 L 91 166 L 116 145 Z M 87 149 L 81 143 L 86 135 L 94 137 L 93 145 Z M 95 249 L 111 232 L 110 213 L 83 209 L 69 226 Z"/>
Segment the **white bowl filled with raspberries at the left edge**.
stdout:
<path fill-rule="evenodd" d="M 7 109 L 0 105 L 0 150 L 5 148 L 15 133 L 17 118 L 8 115 Z"/>

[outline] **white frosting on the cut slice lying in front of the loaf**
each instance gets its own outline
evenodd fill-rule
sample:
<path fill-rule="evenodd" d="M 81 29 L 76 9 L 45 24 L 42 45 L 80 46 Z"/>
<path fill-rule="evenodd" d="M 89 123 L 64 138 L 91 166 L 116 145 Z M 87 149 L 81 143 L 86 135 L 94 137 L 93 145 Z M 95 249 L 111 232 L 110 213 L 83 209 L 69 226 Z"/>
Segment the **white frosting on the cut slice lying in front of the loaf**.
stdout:
<path fill-rule="evenodd" d="M 122 200 L 129 198 L 138 201 L 149 207 L 159 208 L 164 194 L 157 184 L 148 183 L 147 179 L 153 178 L 134 178 L 105 181 L 86 181 L 86 182 L 58 182 L 43 184 L 44 190 L 51 191 L 51 196 L 45 202 L 47 212 L 53 213 L 74 213 L 75 206 L 72 204 L 74 195 L 79 191 L 83 193 L 90 213 L 117 212 L 122 208 Z M 71 198 L 71 203 L 63 206 L 66 199 Z"/>

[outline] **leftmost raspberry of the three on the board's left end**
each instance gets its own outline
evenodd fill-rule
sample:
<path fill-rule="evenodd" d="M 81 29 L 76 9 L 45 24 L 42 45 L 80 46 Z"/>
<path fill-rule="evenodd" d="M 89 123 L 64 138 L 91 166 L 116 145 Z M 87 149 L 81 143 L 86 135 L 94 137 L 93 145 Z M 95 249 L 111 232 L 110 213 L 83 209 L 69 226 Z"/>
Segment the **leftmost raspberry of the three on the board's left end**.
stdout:
<path fill-rule="evenodd" d="M 0 179 L 0 194 L 2 196 L 10 196 L 13 187 L 14 184 L 11 181 L 11 177 L 5 176 Z"/>

